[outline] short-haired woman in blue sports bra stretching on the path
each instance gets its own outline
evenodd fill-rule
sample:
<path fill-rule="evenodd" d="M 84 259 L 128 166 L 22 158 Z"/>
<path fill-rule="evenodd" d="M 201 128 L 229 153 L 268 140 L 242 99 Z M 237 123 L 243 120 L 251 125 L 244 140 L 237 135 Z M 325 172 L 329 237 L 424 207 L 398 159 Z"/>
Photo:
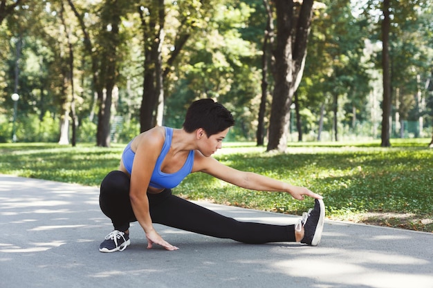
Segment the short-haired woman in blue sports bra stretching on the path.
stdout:
<path fill-rule="evenodd" d="M 245 243 L 320 242 L 324 223 L 322 196 L 256 173 L 238 171 L 212 157 L 234 125 L 230 111 L 212 99 L 193 102 L 182 129 L 157 126 L 135 137 L 122 154 L 118 171 L 111 171 L 100 187 L 100 207 L 114 231 L 100 244 L 101 252 L 123 251 L 129 244 L 129 223 L 138 221 L 147 248 L 163 240 L 153 223 Z M 258 191 L 285 191 L 293 198 L 315 198 L 315 207 L 296 225 L 239 222 L 172 195 L 188 174 L 208 173 L 225 182 Z"/>

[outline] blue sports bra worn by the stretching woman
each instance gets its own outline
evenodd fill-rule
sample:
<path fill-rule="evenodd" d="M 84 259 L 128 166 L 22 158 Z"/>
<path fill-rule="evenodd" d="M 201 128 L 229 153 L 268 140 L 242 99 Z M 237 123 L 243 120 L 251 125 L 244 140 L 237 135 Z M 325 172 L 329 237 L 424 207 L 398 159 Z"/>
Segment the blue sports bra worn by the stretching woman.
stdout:
<path fill-rule="evenodd" d="M 167 155 L 170 146 L 172 145 L 172 137 L 173 137 L 173 128 L 164 127 L 165 128 L 165 141 L 163 144 L 163 148 L 161 150 L 158 159 L 156 160 L 154 171 L 152 172 L 149 186 L 154 187 L 156 189 L 172 189 L 178 184 L 182 182 L 182 180 L 187 177 L 188 174 L 192 171 L 192 165 L 194 164 L 194 150 L 190 151 L 188 154 L 187 160 L 185 164 L 183 164 L 182 168 L 175 173 L 164 173 L 161 171 L 161 164 Z M 122 153 L 122 161 L 123 165 L 131 174 L 132 172 L 132 164 L 133 159 L 136 156 L 131 149 L 131 142 L 126 146 L 125 150 Z"/>

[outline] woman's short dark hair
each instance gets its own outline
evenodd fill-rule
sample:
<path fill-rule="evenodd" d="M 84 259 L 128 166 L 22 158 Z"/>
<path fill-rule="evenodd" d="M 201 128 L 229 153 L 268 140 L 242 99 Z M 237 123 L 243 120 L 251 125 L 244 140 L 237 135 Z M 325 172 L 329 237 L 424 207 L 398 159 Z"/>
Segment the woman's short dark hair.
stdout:
<path fill-rule="evenodd" d="M 213 99 L 199 99 L 190 105 L 185 115 L 183 129 L 192 133 L 203 128 L 208 137 L 234 125 L 232 113 Z"/>

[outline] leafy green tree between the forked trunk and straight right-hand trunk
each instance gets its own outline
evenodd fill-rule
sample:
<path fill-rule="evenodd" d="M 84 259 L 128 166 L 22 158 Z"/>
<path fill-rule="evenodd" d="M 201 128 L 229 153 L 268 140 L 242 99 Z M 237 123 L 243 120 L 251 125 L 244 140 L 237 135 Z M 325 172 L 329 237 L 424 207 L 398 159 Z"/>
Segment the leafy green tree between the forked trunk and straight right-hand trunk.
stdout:
<path fill-rule="evenodd" d="M 332 131 L 334 140 L 338 141 L 339 126 L 347 124 L 347 115 L 352 115 L 351 126 L 354 128 L 357 111 L 365 106 L 369 92 L 364 59 L 365 34 L 362 23 L 352 14 L 350 1 L 324 3 L 326 8 L 315 19 L 311 32 L 304 77 L 311 79 L 313 84 L 312 88 L 308 88 L 309 106 L 323 107 L 323 111 L 317 113 L 322 119 L 320 123 L 323 124 L 324 102 L 331 104 Z M 322 104 L 315 104 L 315 90 L 322 94 Z M 343 106 L 342 102 L 346 105 Z"/>

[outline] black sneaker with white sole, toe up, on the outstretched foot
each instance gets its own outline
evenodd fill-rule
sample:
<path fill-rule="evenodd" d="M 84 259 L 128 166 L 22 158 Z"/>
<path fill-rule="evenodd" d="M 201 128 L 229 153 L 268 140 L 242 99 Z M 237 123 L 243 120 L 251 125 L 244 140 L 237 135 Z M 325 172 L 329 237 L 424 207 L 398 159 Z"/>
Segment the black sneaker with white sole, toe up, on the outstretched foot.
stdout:
<path fill-rule="evenodd" d="M 315 199 L 314 209 L 308 210 L 302 214 L 302 219 L 297 223 L 295 229 L 300 231 L 304 227 L 304 238 L 301 243 L 311 246 L 317 246 L 322 238 L 324 224 L 324 202 Z"/>

